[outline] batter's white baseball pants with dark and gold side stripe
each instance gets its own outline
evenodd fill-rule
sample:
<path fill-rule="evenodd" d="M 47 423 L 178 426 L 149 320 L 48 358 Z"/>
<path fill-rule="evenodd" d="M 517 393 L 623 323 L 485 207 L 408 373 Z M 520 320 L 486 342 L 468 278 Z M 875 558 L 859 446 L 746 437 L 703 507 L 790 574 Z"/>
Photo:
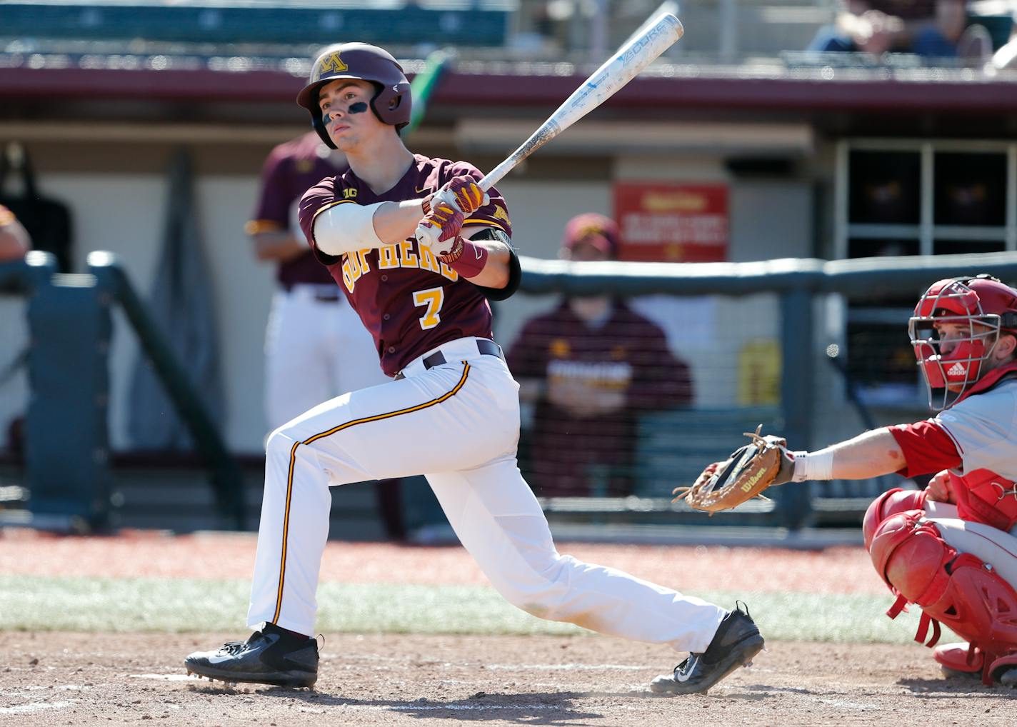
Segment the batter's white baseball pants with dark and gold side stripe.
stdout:
<path fill-rule="evenodd" d="M 705 651 L 726 611 L 559 555 L 516 465 L 519 384 L 476 339 L 445 363 L 325 402 L 268 437 L 247 621 L 313 634 L 330 486 L 424 473 L 463 546 L 511 603 L 634 641 Z"/>

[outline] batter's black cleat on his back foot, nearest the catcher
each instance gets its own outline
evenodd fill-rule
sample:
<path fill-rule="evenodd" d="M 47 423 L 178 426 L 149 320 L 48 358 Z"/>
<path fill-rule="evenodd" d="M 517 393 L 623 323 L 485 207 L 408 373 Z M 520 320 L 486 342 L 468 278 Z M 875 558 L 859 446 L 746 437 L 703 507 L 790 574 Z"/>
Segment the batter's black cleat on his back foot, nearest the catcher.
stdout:
<path fill-rule="evenodd" d="M 702 654 L 690 654 L 674 667 L 673 674 L 661 674 L 650 682 L 658 694 L 706 693 L 707 689 L 737 669 L 749 666 L 763 649 L 763 634 L 749 615 L 749 608 L 735 604 L 724 616 L 717 633 Z"/>

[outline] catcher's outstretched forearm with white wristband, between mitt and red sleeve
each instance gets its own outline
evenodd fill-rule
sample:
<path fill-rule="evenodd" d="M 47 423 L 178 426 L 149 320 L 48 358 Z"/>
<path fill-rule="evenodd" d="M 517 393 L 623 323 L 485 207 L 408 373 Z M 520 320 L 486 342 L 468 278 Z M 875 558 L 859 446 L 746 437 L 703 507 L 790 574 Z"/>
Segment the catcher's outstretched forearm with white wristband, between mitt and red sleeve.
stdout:
<path fill-rule="evenodd" d="M 897 472 L 906 464 L 904 452 L 886 427 L 824 449 L 795 452 L 794 456 L 794 479 L 797 481 L 864 480 Z M 828 463 L 828 458 L 832 462 Z"/>

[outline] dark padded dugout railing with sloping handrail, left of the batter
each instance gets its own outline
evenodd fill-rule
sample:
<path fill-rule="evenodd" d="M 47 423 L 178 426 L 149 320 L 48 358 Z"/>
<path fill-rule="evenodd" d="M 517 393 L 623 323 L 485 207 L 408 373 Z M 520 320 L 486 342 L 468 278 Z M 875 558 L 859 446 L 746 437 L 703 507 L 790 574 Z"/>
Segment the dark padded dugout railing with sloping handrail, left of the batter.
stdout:
<path fill-rule="evenodd" d="M 240 467 L 184 366 L 113 254 L 91 253 L 87 270 L 58 274 L 55 258 L 38 251 L 0 264 L 0 294 L 25 299 L 28 328 L 23 483 L 32 519 L 24 524 L 57 531 L 111 525 L 109 351 L 111 308 L 119 305 L 191 434 L 222 522 L 242 530 Z"/>

